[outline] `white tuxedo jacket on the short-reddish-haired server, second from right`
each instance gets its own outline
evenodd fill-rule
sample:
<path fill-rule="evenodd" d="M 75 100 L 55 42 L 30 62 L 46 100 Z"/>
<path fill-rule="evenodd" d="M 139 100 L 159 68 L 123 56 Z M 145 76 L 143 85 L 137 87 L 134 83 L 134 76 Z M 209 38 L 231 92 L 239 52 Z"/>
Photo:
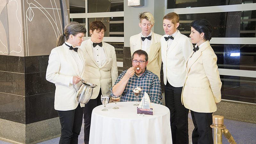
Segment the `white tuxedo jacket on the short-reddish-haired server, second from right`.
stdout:
<path fill-rule="evenodd" d="M 194 47 L 190 39 L 178 30 L 167 52 L 167 41 L 164 37 L 168 36 L 161 37 L 164 84 L 166 85 L 168 80 L 172 86 L 182 87 L 186 78 L 185 62 Z"/>

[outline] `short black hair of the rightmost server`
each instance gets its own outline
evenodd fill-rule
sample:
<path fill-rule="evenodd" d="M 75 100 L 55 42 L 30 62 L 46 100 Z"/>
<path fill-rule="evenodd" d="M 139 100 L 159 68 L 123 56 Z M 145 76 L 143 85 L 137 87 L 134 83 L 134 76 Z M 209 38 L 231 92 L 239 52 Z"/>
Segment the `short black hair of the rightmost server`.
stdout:
<path fill-rule="evenodd" d="M 199 19 L 191 22 L 190 27 L 193 27 L 200 34 L 204 33 L 204 40 L 212 39 L 212 25 L 208 20 Z"/>

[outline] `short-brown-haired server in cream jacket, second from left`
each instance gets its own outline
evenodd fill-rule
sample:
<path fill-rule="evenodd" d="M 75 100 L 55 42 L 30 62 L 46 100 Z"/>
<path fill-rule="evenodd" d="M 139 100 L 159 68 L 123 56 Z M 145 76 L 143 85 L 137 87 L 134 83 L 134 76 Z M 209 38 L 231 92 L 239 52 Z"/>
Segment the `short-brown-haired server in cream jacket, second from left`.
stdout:
<path fill-rule="evenodd" d="M 84 59 L 84 81 L 98 86 L 93 89 L 91 100 L 84 107 L 84 143 L 89 143 L 93 108 L 101 105 L 101 94 L 110 94 L 118 76 L 114 46 L 102 42 L 106 26 L 101 21 L 90 23 L 91 38 L 81 44 Z"/>

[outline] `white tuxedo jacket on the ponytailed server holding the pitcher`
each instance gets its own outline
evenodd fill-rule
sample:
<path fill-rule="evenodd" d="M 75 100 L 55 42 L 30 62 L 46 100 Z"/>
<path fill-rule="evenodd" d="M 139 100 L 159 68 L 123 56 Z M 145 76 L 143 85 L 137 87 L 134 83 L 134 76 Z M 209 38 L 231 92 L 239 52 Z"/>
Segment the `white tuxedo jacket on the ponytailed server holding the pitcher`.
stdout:
<path fill-rule="evenodd" d="M 76 109 L 78 102 L 76 101 L 76 90 L 82 84 L 76 84 L 76 90 L 73 84 L 70 84 L 71 77 L 83 77 L 84 74 L 84 57 L 81 49 L 78 48 L 78 55 L 80 56 L 83 66 L 78 68 L 76 60 L 72 57 L 71 50 L 63 44 L 52 49 L 49 56 L 48 67 L 46 70 L 46 80 L 52 82 L 56 86 L 54 108 L 56 110 L 73 110 Z M 81 107 L 84 104 L 80 103 Z"/>

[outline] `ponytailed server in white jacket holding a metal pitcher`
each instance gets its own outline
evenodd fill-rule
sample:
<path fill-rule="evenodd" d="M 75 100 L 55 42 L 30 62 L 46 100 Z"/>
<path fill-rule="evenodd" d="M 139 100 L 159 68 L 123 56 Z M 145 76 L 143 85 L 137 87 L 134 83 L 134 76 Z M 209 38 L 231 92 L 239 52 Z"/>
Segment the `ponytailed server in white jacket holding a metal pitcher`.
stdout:
<path fill-rule="evenodd" d="M 60 117 L 60 144 L 77 144 L 81 131 L 84 104 L 76 101 L 76 90 L 84 74 L 84 57 L 77 46 L 84 41 L 85 33 L 78 22 L 68 23 L 49 56 L 46 80 L 56 86 L 54 108 Z"/>

